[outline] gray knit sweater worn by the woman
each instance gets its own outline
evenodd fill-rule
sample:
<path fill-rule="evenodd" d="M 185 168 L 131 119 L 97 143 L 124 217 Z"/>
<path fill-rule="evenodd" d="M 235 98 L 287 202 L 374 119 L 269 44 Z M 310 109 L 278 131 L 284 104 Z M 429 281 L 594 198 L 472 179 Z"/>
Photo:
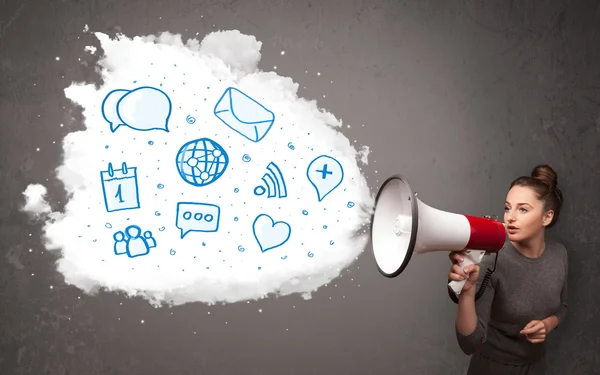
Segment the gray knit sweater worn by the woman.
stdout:
<path fill-rule="evenodd" d="M 493 268 L 494 259 L 493 254 L 484 257 L 479 285 L 485 270 Z M 545 342 L 532 344 L 519 331 L 531 320 L 551 315 L 558 318 L 560 326 L 567 313 L 567 271 L 567 251 L 560 243 L 546 239 L 544 252 L 533 259 L 519 253 L 507 239 L 498 253 L 491 282 L 475 304 L 477 328 L 464 336 L 455 327 L 460 348 L 467 355 L 480 351 L 506 364 L 541 358 Z"/>

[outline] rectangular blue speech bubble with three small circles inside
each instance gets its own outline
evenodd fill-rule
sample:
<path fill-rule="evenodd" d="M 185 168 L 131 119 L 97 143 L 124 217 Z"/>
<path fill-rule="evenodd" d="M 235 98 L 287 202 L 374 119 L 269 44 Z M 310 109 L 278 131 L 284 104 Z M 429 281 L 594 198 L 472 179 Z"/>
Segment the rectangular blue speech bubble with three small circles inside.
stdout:
<path fill-rule="evenodd" d="M 179 202 L 175 226 L 181 230 L 181 238 L 189 232 L 217 232 L 221 208 L 214 204 Z"/>

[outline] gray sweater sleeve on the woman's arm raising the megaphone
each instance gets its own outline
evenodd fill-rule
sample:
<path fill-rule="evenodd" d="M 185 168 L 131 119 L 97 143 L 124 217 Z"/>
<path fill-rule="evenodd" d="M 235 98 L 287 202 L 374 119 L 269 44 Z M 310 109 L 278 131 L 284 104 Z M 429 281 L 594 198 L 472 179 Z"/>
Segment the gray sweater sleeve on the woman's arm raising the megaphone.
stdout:
<path fill-rule="evenodd" d="M 482 262 L 482 264 L 485 264 L 485 263 L 487 263 L 487 262 Z M 481 271 L 480 271 L 481 273 L 480 273 L 479 278 L 477 279 L 477 290 L 479 290 L 479 288 L 481 287 L 483 278 L 485 276 L 485 270 L 486 270 L 486 267 L 480 267 L 480 268 L 481 268 Z M 487 340 L 488 322 L 490 319 L 492 303 L 494 301 L 494 295 L 495 295 L 495 285 L 494 284 L 495 284 L 495 280 L 494 280 L 494 275 L 492 274 L 491 280 L 489 281 L 488 286 L 485 289 L 485 293 L 483 293 L 483 295 L 477 301 L 475 301 L 475 311 L 477 314 L 477 326 L 476 326 L 475 330 L 468 335 L 463 335 L 458 331 L 458 328 L 456 327 L 456 323 L 454 325 L 458 345 L 460 346 L 461 350 L 466 355 L 471 355 L 471 354 L 481 350 L 481 348 L 483 347 L 483 344 L 485 344 L 485 342 Z M 448 288 L 448 289 L 450 290 L 450 288 Z M 452 291 L 450 291 L 450 293 L 451 293 L 451 297 L 452 297 L 452 295 L 454 293 Z M 456 297 L 454 297 L 452 299 L 455 299 L 455 298 Z"/>

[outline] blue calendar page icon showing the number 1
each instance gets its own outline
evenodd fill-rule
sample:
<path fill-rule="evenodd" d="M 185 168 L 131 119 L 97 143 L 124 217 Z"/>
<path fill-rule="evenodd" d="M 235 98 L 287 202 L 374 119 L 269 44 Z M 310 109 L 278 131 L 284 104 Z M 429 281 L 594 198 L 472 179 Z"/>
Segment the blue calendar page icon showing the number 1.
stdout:
<path fill-rule="evenodd" d="M 100 172 L 106 211 L 140 208 L 136 172 L 136 167 L 128 168 L 126 163 L 121 169 L 113 169 L 112 164 L 108 163 L 108 170 Z"/>

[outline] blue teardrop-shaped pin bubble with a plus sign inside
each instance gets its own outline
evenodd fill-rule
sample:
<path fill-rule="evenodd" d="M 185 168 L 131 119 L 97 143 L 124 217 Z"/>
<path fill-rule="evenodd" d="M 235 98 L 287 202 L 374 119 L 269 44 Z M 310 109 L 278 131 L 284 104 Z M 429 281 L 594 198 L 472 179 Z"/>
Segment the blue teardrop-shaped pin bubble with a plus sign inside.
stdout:
<path fill-rule="evenodd" d="M 340 186 L 344 179 L 344 169 L 336 159 L 321 155 L 310 162 L 306 170 L 306 176 L 317 190 L 317 197 L 321 202 L 329 193 Z"/>

